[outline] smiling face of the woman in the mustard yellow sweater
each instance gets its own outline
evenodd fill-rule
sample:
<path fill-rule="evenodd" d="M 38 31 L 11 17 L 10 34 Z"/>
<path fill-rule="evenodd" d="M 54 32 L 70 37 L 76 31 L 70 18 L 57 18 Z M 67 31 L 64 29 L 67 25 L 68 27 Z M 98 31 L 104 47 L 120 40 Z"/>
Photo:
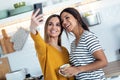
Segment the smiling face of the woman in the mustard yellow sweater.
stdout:
<path fill-rule="evenodd" d="M 52 17 L 48 22 L 47 34 L 49 37 L 58 37 L 61 33 L 61 25 L 58 17 Z"/>

